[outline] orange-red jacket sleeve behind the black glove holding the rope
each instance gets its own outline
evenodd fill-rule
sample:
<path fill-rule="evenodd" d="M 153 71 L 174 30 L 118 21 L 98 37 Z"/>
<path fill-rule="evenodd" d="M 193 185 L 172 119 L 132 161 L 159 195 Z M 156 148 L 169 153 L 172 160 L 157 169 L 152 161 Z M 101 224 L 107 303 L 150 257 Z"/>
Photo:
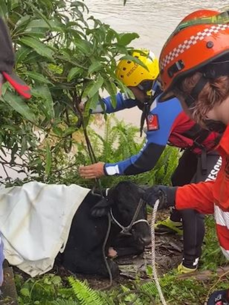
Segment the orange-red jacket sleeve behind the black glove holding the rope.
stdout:
<path fill-rule="evenodd" d="M 213 214 L 214 183 L 214 181 L 208 181 L 178 187 L 176 192 L 176 209 L 194 209 L 203 214 Z"/>

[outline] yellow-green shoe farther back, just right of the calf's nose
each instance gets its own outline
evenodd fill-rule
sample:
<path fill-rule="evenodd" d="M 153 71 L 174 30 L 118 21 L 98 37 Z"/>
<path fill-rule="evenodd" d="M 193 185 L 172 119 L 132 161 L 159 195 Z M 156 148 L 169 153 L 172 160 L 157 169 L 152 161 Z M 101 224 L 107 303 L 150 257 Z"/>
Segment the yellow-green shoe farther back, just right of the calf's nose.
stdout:
<path fill-rule="evenodd" d="M 183 235 L 183 226 L 181 221 L 172 221 L 170 217 L 165 220 L 158 221 L 154 230 L 156 234 L 178 234 Z"/>

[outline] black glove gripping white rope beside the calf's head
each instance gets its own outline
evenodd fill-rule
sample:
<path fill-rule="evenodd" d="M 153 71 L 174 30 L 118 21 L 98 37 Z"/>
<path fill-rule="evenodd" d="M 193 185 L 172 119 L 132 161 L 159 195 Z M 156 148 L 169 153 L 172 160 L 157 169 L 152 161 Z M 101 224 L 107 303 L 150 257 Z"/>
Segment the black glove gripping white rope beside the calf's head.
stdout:
<path fill-rule="evenodd" d="M 150 206 L 154 206 L 157 199 L 160 199 L 158 210 L 167 209 L 175 205 L 175 195 L 177 187 L 165 185 L 154 185 L 145 191 L 145 201 Z"/>

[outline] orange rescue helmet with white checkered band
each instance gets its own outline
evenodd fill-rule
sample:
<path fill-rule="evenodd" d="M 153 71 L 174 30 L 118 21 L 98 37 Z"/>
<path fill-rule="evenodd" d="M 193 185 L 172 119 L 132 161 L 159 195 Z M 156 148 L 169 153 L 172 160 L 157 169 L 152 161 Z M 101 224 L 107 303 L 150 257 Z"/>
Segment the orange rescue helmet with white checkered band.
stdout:
<path fill-rule="evenodd" d="M 166 41 L 159 57 L 159 75 L 164 91 L 160 101 L 173 95 L 171 90 L 182 78 L 225 54 L 229 54 L 228 11 L 220 13 L 204 9 L 186 16 Z M 210 76 L 214 78 L 219 73 L 213 71 Z"/>

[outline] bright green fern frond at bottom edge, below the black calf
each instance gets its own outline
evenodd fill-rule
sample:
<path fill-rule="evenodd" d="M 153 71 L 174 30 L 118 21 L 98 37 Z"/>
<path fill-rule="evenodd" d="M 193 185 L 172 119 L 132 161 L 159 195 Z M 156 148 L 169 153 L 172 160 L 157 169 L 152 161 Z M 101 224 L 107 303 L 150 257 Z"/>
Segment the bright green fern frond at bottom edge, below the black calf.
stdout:
<path fill-rule="evenodd" d="M 68 280 L 81 305 L 105 305 L 99 292 L 91 289 L 87 282 L 81 282 L 73 277 L 68 278 Z"/>

